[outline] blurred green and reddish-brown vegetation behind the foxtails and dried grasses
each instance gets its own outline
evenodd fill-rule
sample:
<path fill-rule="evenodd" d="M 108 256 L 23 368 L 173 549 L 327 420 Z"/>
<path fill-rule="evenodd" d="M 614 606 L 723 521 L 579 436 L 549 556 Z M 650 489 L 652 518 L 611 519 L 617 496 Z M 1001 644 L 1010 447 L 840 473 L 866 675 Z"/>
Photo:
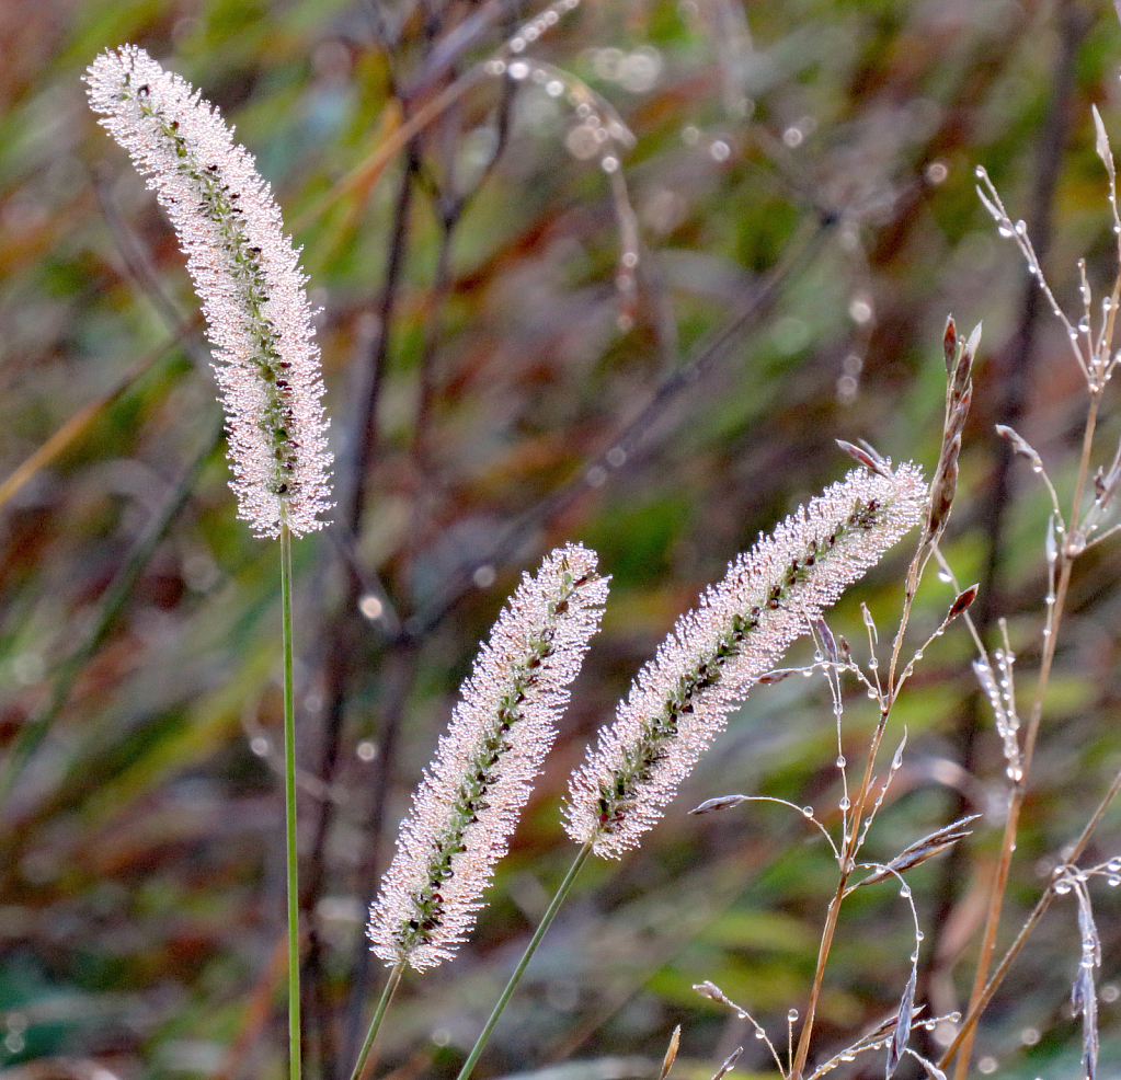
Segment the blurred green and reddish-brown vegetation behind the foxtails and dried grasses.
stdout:
<path fill-rule="evenodd" d="M 951 311 L 965 333 L 983 318 L 984 341 L 947 550 L 983 584 L 986 632 L 1009 617 L 1030 685 L 1047 504 L 992 428 L 1016 425 L 1069 492 L 1085 390 L 973 170 L 1069 310 L 1078 257 L 1112 286 L 1090 111 L 1121 139 L 1110 6 L 589 0 L 511 52 L 541 10 L 0 2 L 4 1077 L 284 1067 L 277 550 L 234 519 L 174 238 L 85 106 L 103 48 L 143 46 L 237 123 L 322 308 L 339 508 L 296 551 L 308 1076 L 350 1073 L 383 978 L 367 905 L 519 575 L 565 540 L 595 547 L 604 630 L 474 940 L 390 1016 L 380 1069 L 402 1080 L 454 1074 L 573 855 L 567 773 L 674 618 L 843 474 L 834 438 L 933 465 Z M 1102 417 L 1099 458 L 1121 435 L 1111 394 Z M 856 602 L 890 633 L 908 556 L 836 613 L 860 655 Z M 1106 544 L 1075 575 L 1002 942 L 1121 767 L 1119 571 Z M 949 598 L 932 575 L 916 642 Z M 904 696 L 888 741 L 906 723 L 907 757 L 870 839 L 889 858 L 988 814 L 912 875 L 933 1012 L 967 994 L 1006 794 L 970 658 L 963 630 L 945 635 Z M 861 769 L 874 719 L 853 691 Z M 763 793 L 835 823 L 836 753 L 823 680 L 760 688 L 643 848 L 585 872 L 480 1074 L 649 1076 L 677 1023 L 683 1074 L 744 1041 L 741 1069 L 766 1072 L 691 985 L 717 983 L 785 1046 L 835 872 L 784 808 L 684 811 Z M 1119 831 L 1108 817 L 1092 857 Z M 897 1007 L 912 942 L 896 892 L 846 907 L 818 1059 Z M 1094 900 L 1117 1071 L 1121 919 L 1109 890 Z M 982 1072 L 1077 1070 L 1075 915 L 1054 906 L 994 1002 Z"/>

